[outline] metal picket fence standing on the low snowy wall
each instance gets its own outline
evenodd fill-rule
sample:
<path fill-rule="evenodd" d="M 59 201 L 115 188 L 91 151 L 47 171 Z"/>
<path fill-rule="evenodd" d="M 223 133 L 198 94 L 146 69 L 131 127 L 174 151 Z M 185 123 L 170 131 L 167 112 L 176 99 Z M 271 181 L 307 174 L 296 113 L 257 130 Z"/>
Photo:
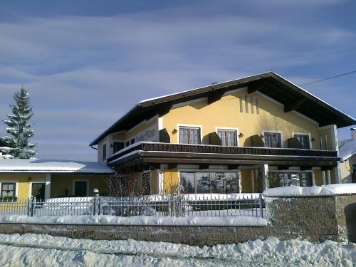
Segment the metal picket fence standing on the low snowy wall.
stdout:
<path fill-rule="evenodd" d="M 0 216 L 256 216 L 266 210 L 261 194 L 186 194 L 143 197 L 68 197 L 0 201 Z"/>

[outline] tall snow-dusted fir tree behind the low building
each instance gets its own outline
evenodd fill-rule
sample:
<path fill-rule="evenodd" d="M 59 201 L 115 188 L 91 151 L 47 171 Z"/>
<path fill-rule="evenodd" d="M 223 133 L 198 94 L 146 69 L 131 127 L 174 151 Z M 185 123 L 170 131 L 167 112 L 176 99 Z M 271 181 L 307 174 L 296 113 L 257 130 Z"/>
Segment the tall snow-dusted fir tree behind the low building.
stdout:
<path fill-rule="evenodd" d="M 29 122 L 33 116 L 29 98 L 30 95 L 23 88 L 16 92 L 14 95 L 15 103 L 10 105 L 12 114 L 6 115 L 8 120 L 3 120 L 8 126 L 5 128 L 6 132 L 11 136 L 0 138 L 5 144 L 5 146 L 0 147 L 0 152 L 17 159 L 29 159 L 37 153 L 36 150 L 31 150 L 35 145 L 28 142 L 34 135 L 34 131 L 31 130 L 33 124 Z"/>

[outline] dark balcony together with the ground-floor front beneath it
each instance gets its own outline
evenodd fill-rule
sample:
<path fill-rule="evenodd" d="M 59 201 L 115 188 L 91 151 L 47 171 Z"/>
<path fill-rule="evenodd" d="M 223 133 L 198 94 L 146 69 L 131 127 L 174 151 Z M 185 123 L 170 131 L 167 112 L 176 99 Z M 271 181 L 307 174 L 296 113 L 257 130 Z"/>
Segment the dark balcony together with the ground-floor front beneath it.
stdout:
<path fill-rule="evenodd" d="M 333 150 L 138 142 L 108 164 L 148 194 L 234 194 L 339 183 L 337 160 Z"/>

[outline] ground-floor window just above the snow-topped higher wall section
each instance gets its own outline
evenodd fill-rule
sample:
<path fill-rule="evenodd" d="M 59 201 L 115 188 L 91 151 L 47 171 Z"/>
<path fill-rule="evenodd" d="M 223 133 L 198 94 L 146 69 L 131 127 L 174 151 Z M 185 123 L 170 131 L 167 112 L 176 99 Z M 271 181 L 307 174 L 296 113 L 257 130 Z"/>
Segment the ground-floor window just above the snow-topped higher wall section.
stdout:
<path fill-rule="evenodd" d="M 311 187 L 313 185 L 311 172 L 268 172 L 269 187 Z"/>

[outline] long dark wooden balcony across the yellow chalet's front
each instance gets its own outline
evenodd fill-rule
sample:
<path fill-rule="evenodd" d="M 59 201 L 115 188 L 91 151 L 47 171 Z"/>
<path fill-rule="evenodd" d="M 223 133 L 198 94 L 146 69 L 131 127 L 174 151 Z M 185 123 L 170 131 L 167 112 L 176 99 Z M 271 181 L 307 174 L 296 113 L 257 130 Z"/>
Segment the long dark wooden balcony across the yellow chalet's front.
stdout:
<path fill-rule="evenodd" d="M 274 147 L 223 147 L 162 142 L 138 142 L 108 159 L 110 165 L 135 160 L 156 164 L 275 164 L 335 166 L 337 152 Z"/>

